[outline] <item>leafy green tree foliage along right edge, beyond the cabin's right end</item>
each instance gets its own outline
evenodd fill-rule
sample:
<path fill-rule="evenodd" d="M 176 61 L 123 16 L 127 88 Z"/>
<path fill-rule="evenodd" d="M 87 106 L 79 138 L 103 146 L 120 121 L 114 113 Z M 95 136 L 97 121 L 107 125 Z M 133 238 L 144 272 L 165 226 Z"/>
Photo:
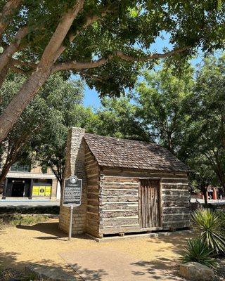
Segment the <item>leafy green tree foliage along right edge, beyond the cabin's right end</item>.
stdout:
<path fill-rule="evenodd" d="M 224 65 L 224 55 L 205 58 L 193 87 L 191 126 L 182 151 L 188 155 L 187 164 L 196 171 L 192 178 L 200 189 L 211 184 L 225 190 Z"/>

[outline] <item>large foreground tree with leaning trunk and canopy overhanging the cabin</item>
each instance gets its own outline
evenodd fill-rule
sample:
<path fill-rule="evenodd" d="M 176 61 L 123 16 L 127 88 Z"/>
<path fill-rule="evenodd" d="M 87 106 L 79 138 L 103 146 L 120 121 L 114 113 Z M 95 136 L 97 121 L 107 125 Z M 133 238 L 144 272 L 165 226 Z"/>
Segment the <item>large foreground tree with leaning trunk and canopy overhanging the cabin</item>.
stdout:
<path fill-rule="evenodd" d="M 114 96 L 134 86 L 139 67 L 159 58 L 176 65 L 199 46 L 224 48 L 224 1 L 6 0 L 1 1 L 0 84 L 8 70 L 26 81 L 0 117 L 0 142 L 25 107 L 57 71 L 70 71 Z M 150 52 L 169 34 L 171 51 Z M 146 51 L 147 50 L 147 51 Z"/>

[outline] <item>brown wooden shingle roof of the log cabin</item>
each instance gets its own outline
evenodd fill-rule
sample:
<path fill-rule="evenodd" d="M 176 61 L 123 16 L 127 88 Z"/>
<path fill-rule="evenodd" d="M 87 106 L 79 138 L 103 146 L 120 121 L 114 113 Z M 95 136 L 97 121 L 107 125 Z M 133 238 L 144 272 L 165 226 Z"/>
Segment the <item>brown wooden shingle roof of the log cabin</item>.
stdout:
<path fill-rule="evenodd" d="M 188 166 L 156 143 L 85 133 L 84 139 L 100 166 L 154 171 L 189 171 Z"/>

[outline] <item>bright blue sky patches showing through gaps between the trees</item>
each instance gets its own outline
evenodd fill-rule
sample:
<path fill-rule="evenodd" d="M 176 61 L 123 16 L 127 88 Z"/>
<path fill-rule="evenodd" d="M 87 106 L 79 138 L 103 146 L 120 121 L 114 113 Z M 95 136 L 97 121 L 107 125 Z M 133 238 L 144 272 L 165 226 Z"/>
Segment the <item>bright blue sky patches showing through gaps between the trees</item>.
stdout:
<path fill-rule="evenodd" d="M 158 37 L 155 40 L 155 43 L 152 44 L 150 51 L 162 53 L 163 48 L 167 47 L 169 49 L 172 48 L 172 44 L 169 44 L 169 36 L 167 34 L 163 34 L 164 39 Z M 192 60 L 193 65 L 197 65 L 201 62 L 203 58 L 199 55 L 198 58 L 195 58 Z M 95 91 L 95 89 L 89 89 L 88 86 L 85 86 L 84 91 L 84 106 L 91 106 L 94 108 L 98 108 L 101 106 L 101 99 L 98 97 L 98 93 Z"/>

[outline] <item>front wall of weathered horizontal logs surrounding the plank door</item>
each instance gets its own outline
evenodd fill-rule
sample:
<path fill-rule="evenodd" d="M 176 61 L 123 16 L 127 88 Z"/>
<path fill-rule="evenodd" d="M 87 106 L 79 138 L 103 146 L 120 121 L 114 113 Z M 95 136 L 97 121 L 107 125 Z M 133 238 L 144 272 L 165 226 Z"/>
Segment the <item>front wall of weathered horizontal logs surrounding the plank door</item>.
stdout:
<path fill-rule="evenodd" d="M 139 232 L 140 178 L 160 179 L 162 224 L 152 230 L 184 228 L 190 225 L 188 178 L 186 173 L 141 171 L 101 167 L 99 232 Z M 150 229 L 149 229 L 150 230 Z"/>

